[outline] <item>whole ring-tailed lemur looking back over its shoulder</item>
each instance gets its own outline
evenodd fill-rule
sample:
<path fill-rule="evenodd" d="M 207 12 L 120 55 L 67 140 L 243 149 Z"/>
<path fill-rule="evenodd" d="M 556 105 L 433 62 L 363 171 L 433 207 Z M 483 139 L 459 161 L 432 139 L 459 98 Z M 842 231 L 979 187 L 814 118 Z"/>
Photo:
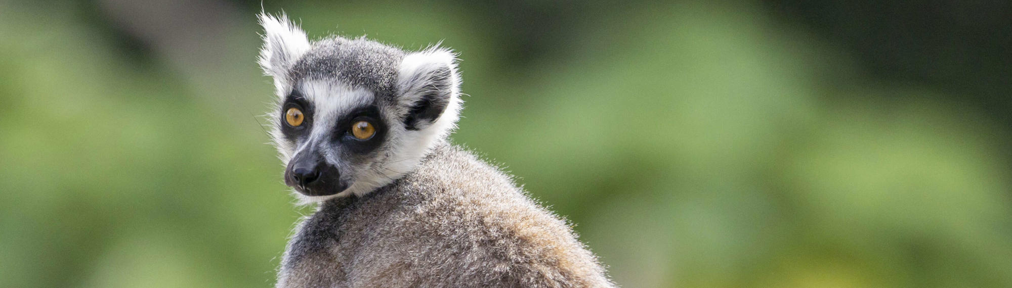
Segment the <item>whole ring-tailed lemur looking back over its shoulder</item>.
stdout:
<path fill-rule="evenodd" d="M 449 142 L 453 52 L 310 41 L 284 14 L 258 17 L 284 183 L 317 203 L 276 287 L 614 286 L 565 220 Z"/>

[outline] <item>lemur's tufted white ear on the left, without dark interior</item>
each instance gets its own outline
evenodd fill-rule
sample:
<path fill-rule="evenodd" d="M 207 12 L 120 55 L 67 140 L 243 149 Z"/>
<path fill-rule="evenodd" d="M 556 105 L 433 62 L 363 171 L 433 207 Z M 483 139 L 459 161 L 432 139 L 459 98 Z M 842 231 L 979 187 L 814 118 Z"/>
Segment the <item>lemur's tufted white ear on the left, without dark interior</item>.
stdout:
<path fill-rule="evenodd" d="M 263 47 L 260 49 L 260 68 L 274 77 L 275 84 L 287 76 L 288 69 L 310 50 L 306 32 L 288 20 L 284 13 L 273 16 L 266 13 L 257 15 L 263 26 Z"/>

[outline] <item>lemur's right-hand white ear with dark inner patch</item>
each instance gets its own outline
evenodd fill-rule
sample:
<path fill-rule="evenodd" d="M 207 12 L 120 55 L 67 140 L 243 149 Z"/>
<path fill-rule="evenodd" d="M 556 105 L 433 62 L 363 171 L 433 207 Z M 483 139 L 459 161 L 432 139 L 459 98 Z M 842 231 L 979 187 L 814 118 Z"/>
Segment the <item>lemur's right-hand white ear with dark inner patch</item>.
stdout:
<path fill-rule="evenodd" d="M 420 130 L 440 119 L 445 119 L 440 122 L 449 129 L 456 122 L 460 76 L 455 60 L 452 52 L 432 47 L 412 53 L 401 62 L 398 104 L 404 109 L 408 129 Z"/>

